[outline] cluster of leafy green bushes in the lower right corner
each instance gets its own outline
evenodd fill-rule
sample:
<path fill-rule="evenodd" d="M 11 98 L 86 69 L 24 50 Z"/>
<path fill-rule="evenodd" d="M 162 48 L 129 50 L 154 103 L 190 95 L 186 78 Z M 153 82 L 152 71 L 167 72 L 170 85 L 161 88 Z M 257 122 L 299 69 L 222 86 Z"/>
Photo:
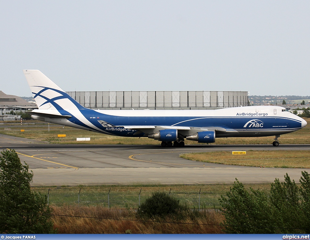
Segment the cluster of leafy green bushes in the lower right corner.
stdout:
<path fill-rule="evenodd" d="M 310 230 L 310 175 L 302 172 L 301 187 L 286 173 L 275 179 L 270 194 L 247 191 L 237 179 L 221 196 L 226 233 L 308 233 Z"/>

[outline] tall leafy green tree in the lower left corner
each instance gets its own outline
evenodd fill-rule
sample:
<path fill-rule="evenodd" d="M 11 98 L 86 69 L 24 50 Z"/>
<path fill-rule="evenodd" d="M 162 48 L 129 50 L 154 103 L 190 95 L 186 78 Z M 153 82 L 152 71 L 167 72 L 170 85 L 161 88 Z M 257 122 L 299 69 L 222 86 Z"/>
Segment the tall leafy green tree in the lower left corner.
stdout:
<path fill-rule="evenodd" d="M 0 232 L 53 233 L 47 196 L 32 192 L 33 173 L 15 150 L 0 155 Z"/>

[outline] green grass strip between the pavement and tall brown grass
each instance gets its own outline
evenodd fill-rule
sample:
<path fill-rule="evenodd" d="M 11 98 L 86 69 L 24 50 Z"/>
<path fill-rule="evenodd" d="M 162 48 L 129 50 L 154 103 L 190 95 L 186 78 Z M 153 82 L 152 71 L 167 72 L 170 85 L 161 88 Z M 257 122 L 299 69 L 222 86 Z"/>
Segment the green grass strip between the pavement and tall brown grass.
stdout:
<path fill-rule="evenodd" d="M 79 205 L 101 206 L 110 208 L 137 209 L 140 203 L 152 195 L 152 192 L 170 192 L 171 196 L 180 200 L 191 209 L 198 209 L 199 191 L 200 209 L 220 208 L 219 198 L 232 184 L 200 184 L 200 185 L 111 185 L 111 186 L 62 186 L 62 187 L 32 187 L 33 191 L 43 194 L 49 192 L 49 203 L 55 206 L 77 205 L 80 191 Z M 246 188 L 259 188 L 269 192 L 270 183 L 245 184 Z M 110 190 L 111 188 L 111 190 Z M 171 189 L 171 191 L 170 191 Z M 108 192 L 109 196 L 108 196 Z M 109 204 L 108 204 L 109 203 Z"/>

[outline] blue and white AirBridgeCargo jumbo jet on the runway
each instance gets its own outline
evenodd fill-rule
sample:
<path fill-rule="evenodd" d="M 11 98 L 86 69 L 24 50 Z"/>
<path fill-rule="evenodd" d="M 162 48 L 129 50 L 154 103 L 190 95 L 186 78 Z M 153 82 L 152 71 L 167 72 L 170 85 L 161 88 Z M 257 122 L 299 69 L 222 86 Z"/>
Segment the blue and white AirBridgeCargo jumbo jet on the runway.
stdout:
<path fill-rule="evenodd" d="M 215 110 L 96 110 L 85 108 L 39 70 L 23 70 L 38 109 L 32 118 L 114 136 L 148 137 L 163 147 L 184 147 L 184 139 L 214 143 L 220 137 L 275 136 L 307 122 L 280 106 Z"/>

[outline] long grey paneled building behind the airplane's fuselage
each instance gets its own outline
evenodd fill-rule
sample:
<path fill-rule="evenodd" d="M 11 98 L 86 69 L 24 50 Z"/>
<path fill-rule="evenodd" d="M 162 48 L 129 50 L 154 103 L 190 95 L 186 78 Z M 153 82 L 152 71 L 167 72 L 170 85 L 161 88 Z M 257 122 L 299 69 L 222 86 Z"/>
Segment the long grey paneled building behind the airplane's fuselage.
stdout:
<path fill-rule="evenodd" d="M 67 92 L 86 108 L 218 109 L 248 106 L 247 91 L 90 91 Z"/>

